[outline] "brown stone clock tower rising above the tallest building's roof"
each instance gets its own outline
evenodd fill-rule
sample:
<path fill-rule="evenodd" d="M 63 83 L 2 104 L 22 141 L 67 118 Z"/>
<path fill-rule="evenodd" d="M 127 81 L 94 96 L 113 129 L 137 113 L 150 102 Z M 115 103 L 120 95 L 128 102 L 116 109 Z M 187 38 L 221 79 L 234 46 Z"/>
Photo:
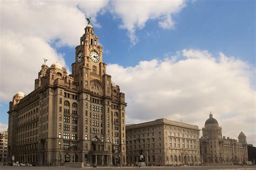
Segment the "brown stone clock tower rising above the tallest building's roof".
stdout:
<path fill-rule="evenodd" d="M 102 58 L 103 48 L 99 45 L 93 27 L 88 24 L 84 31 L 80 37 L 80 45 L 76 47 L 76 61 L 72 64 L 72 75 L 79 85 L 78 90 L 89 90 L 92 80 L 103 81 L 106 73 L 106 64 Z M 111 76 L 108 79 L 110 81 Z"/>

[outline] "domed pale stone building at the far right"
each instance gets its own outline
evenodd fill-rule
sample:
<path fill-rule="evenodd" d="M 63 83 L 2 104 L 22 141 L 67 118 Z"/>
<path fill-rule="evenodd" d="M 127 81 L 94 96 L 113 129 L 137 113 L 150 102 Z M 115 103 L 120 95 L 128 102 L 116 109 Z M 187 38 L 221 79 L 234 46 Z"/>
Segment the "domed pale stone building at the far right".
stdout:
<path fill-rule="evenodd" d="M 240 133 L 238 141 L 222 137 L 218 121 L 210 114 L 202 129 L 200 153 L 205 165 L 232 165 L 247 161 L 247 143 L 244 133 Z"/>

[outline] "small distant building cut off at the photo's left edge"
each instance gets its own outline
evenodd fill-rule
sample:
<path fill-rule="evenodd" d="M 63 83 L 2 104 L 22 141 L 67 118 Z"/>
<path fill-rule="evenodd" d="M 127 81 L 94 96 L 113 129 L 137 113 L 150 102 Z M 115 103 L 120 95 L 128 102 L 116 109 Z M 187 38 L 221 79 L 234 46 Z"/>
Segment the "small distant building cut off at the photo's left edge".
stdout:
<path fill-rule="evenodd" d="M 0 162 L 7 160 L 8 131 L 0 132 Z"/>

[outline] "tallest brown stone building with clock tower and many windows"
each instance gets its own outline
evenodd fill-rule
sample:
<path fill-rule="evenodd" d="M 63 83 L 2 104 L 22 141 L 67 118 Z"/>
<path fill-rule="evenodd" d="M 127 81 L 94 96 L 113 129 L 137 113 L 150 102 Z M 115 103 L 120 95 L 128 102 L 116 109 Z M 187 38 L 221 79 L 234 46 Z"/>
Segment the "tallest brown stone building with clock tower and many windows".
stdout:
<path fill-rule="evenodd" d="M 126 164 L 125 94 L 106 74 L 93 27 L 84 31 L 71 74 L 58 62 L 44 63 L 35 90 L 10 102 L 9 160 Z"/>

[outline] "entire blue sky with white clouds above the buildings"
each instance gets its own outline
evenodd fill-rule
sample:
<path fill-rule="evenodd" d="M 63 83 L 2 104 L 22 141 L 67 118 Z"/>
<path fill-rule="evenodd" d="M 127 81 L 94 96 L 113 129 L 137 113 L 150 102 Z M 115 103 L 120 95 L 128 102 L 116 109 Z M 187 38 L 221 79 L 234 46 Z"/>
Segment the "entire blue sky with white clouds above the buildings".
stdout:
<path fill-rule="evenodd" d="M 126 123 L 181 117 L 202 128 L 211 111 L 223 136 L 243 131 L 256 145 L 255 1 L 0 3 L 0 130 L 42 58 L 71 70 L 91 17 L 107 73 L 126 94 Z"/>

